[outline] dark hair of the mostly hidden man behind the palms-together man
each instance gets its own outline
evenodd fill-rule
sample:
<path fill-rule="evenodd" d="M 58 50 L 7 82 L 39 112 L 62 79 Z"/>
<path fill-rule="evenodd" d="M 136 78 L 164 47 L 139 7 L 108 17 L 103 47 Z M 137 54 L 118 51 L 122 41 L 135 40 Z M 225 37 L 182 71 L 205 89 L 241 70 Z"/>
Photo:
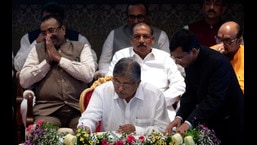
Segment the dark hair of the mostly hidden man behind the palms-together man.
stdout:
<path fill-rule="evenodd" d="M 51 1 L 43 5 L 41 16 L 43 16 L 44 12 L 48 12 L 53 15 L 59 15 L 62 19 L 64 19 L 64 8 L 55 1 Z"/>

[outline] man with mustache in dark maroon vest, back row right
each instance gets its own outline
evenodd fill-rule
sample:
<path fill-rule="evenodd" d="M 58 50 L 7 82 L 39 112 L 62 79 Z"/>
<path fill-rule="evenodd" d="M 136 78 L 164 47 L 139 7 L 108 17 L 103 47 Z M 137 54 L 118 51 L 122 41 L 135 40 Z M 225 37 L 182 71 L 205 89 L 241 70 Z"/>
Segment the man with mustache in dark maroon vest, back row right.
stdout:
<path fill-rule="evenodd" d="M 203 19 L 192 22 L 184 28 L 191 30 L 200 44 L 212 46 L 216 44 L 215 35 L 224 23 L 221 19 L 227 9 L 226 0 L 203 0 Z"/>

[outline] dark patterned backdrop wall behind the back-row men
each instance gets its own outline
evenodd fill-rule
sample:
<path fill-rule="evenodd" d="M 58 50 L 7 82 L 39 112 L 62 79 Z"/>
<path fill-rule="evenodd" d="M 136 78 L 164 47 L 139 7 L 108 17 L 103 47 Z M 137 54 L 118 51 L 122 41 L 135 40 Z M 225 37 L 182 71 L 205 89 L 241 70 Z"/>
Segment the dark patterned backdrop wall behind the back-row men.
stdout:
<path fill-rule="evenodd" d="M 21 37 L 40 25 L 40 10 L 49 0 L 12 0 L 12 50 L 20 47 Z M 150 22 L 164 30 L 169 38 L 174 31 L 202 18 L 202 0 L 144 0 L 149 4 Z M 129 0 L 56 0 L 65 8 L 65 25 L 86 36 L 99 59 L 109 32 L 126 23 Z M 240 0 L 228 0 L 224 20 L 244 27 L 244 6 Z"/>

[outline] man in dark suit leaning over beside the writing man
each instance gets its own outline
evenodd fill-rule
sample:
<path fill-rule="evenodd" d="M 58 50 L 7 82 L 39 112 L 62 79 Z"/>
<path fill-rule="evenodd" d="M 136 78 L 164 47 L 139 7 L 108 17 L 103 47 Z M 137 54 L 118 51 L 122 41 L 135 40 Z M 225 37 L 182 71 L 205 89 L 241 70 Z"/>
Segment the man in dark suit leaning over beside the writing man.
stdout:
<path fill-rule="evenodd" d="M 173 35 L 170 51 L 176 63 L 185 68 L 186 91 L 166 133 L 176 127 L 176 132 L 183 134 L 201 123 L 215 131 L 221 145 L 243 144 L 244 95 L 229 60 L 200 45 L 185 29 Z"/>

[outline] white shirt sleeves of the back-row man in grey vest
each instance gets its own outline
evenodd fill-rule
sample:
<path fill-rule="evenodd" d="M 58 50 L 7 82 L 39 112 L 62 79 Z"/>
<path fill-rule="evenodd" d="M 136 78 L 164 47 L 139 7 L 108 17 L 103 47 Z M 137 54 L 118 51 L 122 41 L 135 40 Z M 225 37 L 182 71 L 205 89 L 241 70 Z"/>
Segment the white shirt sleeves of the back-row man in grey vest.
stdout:
<path fill-rule="evenodd" d="M 101 56 L 99 59 L 99 71 L 104 75 L 108 72 L 109 65 L 113 57 L 113 40 L 114 40 L 114 30 L 112 30 L 109 33 L 107 39 L 105 40 L 102 48 Z M 155 41 L 157 41 L 160 50 L 170 52 L 169 38 L 166 32 L 161 31 L 159 39 Z"/>

